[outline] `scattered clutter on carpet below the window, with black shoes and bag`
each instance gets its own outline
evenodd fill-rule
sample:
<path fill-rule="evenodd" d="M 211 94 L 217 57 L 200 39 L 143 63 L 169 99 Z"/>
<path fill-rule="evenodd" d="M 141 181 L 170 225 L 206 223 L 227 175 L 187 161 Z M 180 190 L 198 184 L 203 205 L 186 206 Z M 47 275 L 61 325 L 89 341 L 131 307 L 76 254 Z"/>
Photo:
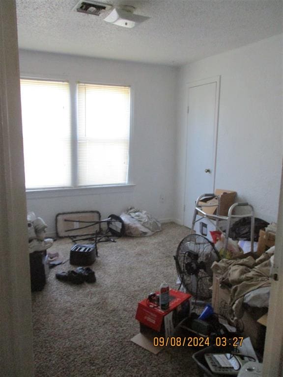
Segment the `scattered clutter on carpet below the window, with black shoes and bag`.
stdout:
<path fill-rule="evenodd" d="M 123 216 L 123 217 L 122 217 Z M 47 224 L 41 217 L 28 212 L 28 241 L 30 253 L 31 290 L 41 291 L 49 269 L 65 263 L 56 251 L 47 251 L 54 240 L 46 238 Z M 125 224 L 124 224 L 125 220 Z M 104 229 L 106 226 L 106 228 Z M 126 228 L 126 232 L 125 232 Z M 70 264 L 80 266 L 74 270 L 58 272 L 56 278 L 73 284 L 94 283 L 95 273 L 88 266 L 98 256 L 99 242 L 116 242 L 115 238 L 150 236 L 161 230 L 160 222 L 146 211 L 129 208 L 120 216 L 109 215 L 101 219 L 99 211 L 66 212 L 56 216 L 58 238 L 69 238 L 75 244 L 70 250 Z M 77 243 L 85 241 L 84 244 Z M 82 267 L 87 266 L 87 267 Z"/>

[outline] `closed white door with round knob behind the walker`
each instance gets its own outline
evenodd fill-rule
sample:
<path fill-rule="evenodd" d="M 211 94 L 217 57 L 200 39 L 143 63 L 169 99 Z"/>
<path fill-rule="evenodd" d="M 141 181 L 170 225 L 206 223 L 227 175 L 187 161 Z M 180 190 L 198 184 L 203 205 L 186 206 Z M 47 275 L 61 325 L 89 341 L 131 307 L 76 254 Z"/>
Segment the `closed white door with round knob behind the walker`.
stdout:
<path fill-rule="evenodd" d="M 199 195 L 214 192 L 220 78 L 189 84 L 184 225 Z"/>

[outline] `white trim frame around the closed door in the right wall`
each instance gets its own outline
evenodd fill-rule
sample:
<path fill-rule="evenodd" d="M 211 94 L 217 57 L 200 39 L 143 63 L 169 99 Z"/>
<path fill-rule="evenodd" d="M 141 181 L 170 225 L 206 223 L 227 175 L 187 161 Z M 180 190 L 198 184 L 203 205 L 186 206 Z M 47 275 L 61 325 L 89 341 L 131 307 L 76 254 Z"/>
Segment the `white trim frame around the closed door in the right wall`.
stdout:
<path fill-rule="evenodd" d="M 185 148 L 185 183 L 184 183 L 184 197 L 183 197 L 183 224 L 185 224 L 185 212 L 186 212 L 186 193 L 187 193 L 187 164 L 188 164 L 188 137 L 189 137 L 189 90 L 190 88 L 194 88 L 196 86 L 207 85 L 216 83 L 215 89 L 215 112 L 214 112 L 214 135 L 213 135 L 213 192 L 215 190 L 215 180 L 216 180 L 216 164 L 217 164 L 217 142 L 218 142 L 218 127 L 219 127 L 219 108 L 220 108 L 220 86 L 221 86 L 221 76 L 212 76 L 206 79 L 196 80 L 188 82 L 186 87 L 187 92 L 187 101 L 186 101 L 186 148 Z M 200 192 L 199 195 L 203 194 L 204 192 Z M 195 199 L 197 200 L 197 198 Z"/>

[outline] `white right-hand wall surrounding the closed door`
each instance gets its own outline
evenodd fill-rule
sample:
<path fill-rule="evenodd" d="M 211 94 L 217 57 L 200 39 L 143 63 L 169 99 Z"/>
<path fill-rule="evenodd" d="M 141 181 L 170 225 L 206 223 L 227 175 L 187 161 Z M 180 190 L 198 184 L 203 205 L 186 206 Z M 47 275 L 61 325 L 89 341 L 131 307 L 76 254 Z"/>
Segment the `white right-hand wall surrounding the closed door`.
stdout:
<path fill-rule="evenodd" d="M 237 191 L 238 201 L 251 203 L 256 216 L 277 220 L 283 156 L 282 46 L 282 35 L 277 35 L 179 69 L 176 221 L 183 222 L 186 84 L 218 75 L 215 187 Z"/>

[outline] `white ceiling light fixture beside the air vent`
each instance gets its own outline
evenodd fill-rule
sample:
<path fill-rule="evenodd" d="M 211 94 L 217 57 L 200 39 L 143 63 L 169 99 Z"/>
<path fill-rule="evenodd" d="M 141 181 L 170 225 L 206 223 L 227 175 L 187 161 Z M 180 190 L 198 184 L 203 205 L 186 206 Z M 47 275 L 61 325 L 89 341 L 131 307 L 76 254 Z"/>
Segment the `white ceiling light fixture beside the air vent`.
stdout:
<path fill-rule="evenodd" d="M 135 9 L 136 8 L 131 5 L 124 5 L 121 8 L 114 8 L 113 11 L 104 19 L 104 21 L 122 27 L 135 27 L 150 18 L 134 14 Z"/>

